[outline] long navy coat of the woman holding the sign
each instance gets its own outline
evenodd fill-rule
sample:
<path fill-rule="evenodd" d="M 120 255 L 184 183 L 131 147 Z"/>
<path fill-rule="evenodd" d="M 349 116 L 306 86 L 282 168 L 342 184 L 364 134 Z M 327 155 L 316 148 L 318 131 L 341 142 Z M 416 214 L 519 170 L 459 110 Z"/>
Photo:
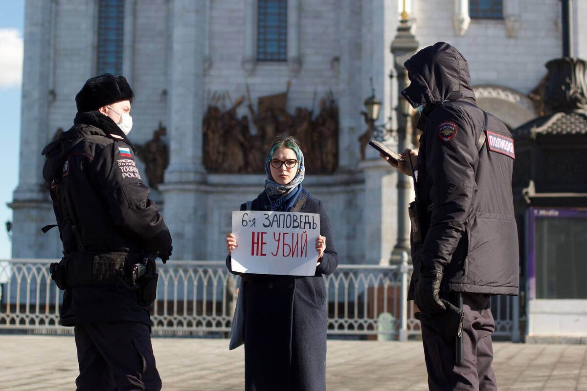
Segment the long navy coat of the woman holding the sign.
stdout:
<path fill-rule="evenodd" d="M 251 210 L 270 210 L 265 192 Z M 330 221 L 322 203 L 309 196 L 300 210 L 320 214 L 326 250 L 315 276 L 241 274 L 245 307 L 245 390 L 326 390 L 326 289 L 322 274 L 338 266 Z M 315 243 L 308 243 L 313 249 Z M 231 258 L 227 257 L 231 271 Z"/>

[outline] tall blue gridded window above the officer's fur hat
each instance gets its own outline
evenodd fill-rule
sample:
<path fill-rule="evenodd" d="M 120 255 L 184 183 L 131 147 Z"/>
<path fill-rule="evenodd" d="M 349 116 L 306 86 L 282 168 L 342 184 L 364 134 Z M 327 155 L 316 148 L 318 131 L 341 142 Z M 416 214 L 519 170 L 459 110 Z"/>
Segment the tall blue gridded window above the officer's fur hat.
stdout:
<path fill-rule="evenodd" d="M 122 73 L 124 0 L 98 1 L 96 73 Z"/>

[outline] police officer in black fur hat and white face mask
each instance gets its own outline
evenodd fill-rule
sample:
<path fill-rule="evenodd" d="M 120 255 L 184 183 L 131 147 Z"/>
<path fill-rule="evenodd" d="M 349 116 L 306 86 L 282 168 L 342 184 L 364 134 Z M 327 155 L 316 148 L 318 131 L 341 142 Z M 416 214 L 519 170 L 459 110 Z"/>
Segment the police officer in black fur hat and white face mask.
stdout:
<path fill-rule="evenodd" d="M 149 308 L 171 236 L 127 137 L 133 99 L 124 76 L 92 77 L 73 127 L 43 149 L 65 254 L 51 274 L 65 288 L 60 322 L 75 327 L 80 391 L 161 389 Z"/>

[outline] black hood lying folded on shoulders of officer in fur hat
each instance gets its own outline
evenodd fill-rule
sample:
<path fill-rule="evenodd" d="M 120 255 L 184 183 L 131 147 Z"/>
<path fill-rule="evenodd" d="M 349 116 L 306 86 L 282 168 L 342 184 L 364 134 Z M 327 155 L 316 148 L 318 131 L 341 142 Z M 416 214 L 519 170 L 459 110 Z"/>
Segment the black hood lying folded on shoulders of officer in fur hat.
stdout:
<path fill-rule="evenodd" d="M 60 134 L 55 141 L 43 148 L 43 152 L 41 152 L 43 156 L 47 157 L 45 166 L 43 166 L 43 178 L 49 183 L 53 179 L 61 178 L 63 164 L 68 159 L 70 151 L 88 136 L 99 135 L 107 137 L 109 133 L 116 134 L 123 137 L 124 142 L 134 150 L 133 145 L 118 125 L 110 117 L 106 117 L 99 111 L 77 113 L 73 124 L 70 130 Z"/>

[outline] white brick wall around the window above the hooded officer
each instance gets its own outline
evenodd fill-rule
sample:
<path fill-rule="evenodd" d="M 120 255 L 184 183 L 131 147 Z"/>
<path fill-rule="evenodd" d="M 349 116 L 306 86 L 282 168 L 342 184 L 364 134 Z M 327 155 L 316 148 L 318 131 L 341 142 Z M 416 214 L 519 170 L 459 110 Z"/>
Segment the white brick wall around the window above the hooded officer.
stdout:
<path fill-rule="evenodd" d="M 546 74 L 544 64 L 561 52 L 561 5 L 558 0 L 519 0 L 520 28 L 508 38 L 503 20 L 473 19 L 456 36 L 451 2 L 417 1 L 416 38 L 420 47 L 445 40 L 463 53 L 473 85 L 497 84 L 529 93 Z"/>

